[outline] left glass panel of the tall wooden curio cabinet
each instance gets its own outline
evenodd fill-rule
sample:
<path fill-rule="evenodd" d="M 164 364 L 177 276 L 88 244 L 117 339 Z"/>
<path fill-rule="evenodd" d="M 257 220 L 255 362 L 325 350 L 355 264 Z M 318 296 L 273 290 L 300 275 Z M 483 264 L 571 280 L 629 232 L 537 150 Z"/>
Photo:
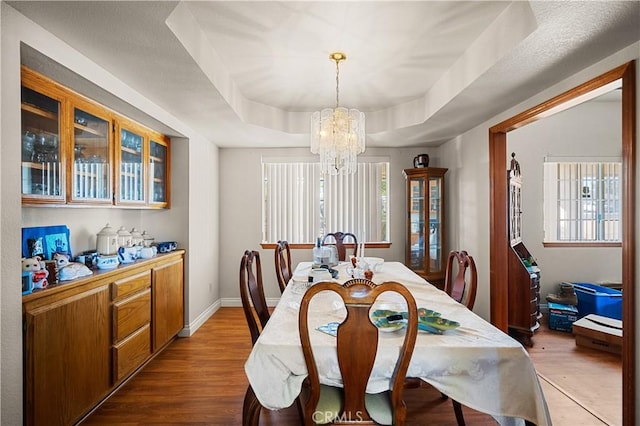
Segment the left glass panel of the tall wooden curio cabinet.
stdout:
<path fill-rule="evenodd" d="M 409 241 L 411 269 L 425 269 L 425 179 L 409 179 Z"/>

